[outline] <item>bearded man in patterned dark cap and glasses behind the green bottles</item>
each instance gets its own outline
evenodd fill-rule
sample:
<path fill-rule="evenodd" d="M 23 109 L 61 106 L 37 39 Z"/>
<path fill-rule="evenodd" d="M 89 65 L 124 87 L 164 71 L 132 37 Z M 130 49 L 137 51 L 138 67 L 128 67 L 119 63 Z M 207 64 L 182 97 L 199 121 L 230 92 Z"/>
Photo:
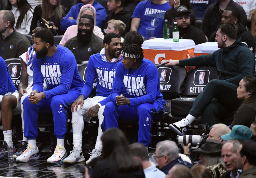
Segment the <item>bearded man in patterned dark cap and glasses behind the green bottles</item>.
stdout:
<path fill-rule="evenodd" d="M 177 22 L 180 39 L 192 39 L 195 45 L 205 43 L 206 38 L 202 30 L 190 25 L 189 14 L 186 6 L 177 6 L 173 9 L 173 22 Z M 173 38 L 173 29 L 170 29 L 170 38 Z"/>

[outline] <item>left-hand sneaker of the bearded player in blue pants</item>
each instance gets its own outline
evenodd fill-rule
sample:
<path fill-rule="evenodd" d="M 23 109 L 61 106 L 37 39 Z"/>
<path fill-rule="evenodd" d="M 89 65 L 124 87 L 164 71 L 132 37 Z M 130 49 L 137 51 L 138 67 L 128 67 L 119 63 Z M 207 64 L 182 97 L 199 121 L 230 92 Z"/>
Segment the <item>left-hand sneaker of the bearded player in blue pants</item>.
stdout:
<path fill-rule="evenodd" d="M 20 156 L 18 156 L 16 158 L 16 161 L 27 162 L 30 160 L 39 159 L 40 154 L 38 154 L 38 153 L 39 153 L 38 147 L 37 147 L 37 149 L 34 149 L 29 143 L 29 144 L 27 144 L 27 149 Z"/>

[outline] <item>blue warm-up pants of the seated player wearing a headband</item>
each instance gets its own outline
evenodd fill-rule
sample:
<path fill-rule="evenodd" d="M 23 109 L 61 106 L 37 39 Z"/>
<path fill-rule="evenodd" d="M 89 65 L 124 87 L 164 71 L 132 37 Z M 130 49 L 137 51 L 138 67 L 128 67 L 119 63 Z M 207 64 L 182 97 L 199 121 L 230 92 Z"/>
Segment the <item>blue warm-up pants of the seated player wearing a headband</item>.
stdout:
<path fill-rule="evenodd" d="M 136 107 L 117 106 L 111 101 L 105 106 L 102 126 L 104 130 L 111 127 L 118 128 L 117 119 L 139 121 L 138 142 L 147 147 L 151 139 L 151 124 L 160 118 L 164 112 L 164 100 L 157 100 L 153 104 L 145 103 Z"/>

